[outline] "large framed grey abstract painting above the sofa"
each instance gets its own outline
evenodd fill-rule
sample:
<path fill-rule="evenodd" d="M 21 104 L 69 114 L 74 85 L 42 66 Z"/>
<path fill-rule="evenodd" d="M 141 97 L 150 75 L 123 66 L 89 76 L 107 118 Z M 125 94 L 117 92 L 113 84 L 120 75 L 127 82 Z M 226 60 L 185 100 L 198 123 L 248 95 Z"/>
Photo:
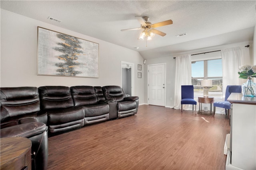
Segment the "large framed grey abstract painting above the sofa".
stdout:
<path fill-rule="evenodd" d="M 38 27 L 37 75 L 99 78 L 99 44 Z"/>

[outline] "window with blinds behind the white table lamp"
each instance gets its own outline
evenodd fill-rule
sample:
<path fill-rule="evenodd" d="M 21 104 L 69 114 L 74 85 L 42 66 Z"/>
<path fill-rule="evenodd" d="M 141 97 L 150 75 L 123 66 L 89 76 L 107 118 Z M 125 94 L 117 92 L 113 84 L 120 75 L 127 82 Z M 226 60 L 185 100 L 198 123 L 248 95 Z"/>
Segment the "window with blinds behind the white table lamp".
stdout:
<path fill-rule="evenodd" d="M 200 82 L 202 79 L 212 80 L 209 96 L 222 97 L 222 59 L 192 61 L 192 85 L 195 96 L 204 95 L 204 88 Z"/>

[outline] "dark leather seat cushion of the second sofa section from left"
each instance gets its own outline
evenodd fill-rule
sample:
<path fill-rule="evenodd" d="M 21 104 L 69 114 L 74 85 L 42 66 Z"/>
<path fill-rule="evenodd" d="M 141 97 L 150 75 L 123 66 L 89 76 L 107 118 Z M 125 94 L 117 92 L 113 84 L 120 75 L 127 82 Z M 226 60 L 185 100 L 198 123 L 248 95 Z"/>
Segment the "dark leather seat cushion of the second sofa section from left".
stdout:
<path fill-rule="evenodd" d="M 60 125 L 84 119 L 84 109 L 82 107 L 47 110 L 47 113 L 48 125 Z"/>

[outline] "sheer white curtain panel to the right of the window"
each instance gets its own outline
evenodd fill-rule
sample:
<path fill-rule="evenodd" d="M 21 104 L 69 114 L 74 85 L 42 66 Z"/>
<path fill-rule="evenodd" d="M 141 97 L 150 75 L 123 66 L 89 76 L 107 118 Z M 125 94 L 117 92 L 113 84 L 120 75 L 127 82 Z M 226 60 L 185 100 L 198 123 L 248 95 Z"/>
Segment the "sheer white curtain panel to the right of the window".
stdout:
<path fill-rule="evenodd" d="M 239 66 L 250 64 L 248 47 L 234 47 L 221 50 L 222 58 L 222 97 L 224 99 L 228 85 L 242 85 L 246 79 L 238 78 Z M 251 65 L 251 64 L 250 64 Z"/>

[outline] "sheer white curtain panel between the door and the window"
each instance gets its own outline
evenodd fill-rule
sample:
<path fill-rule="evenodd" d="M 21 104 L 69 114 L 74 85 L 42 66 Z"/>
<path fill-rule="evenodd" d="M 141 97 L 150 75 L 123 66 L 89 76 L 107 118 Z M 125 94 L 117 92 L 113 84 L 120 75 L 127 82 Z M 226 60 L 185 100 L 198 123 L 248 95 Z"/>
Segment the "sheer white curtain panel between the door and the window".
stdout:
<path fill-rule="evenodd" d="M 176 57 L 174 109 L 181 108 L 181 86 L 191 85 L 191 55 Z M 184 105 L 183 109 L 188 109 L 189 105 Z"/>

